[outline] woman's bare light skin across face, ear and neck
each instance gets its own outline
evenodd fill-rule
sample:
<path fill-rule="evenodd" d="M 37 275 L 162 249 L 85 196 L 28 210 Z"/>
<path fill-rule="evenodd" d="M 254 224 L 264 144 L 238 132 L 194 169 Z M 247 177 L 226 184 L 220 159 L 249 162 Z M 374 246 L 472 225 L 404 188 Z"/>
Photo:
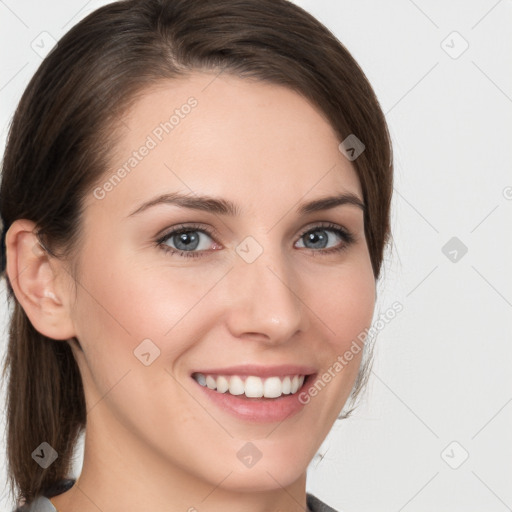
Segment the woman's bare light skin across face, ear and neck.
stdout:
<path fill-rule="evenodd" d="M 214 76 L 165 82 L 126 113 L 106 179 L 175 108 L 198 101 L 103 199 L 89 194 L 77 281 L 37 246 L 32 222 L 8 231 L 7 272 L 31 322 L 57 340 L 76 336 L 83 349 L 68 341 L 88 417 L 80 479 L 53 499 L 61 512 L 304 511 L 307 466 L 357 375 L 362 352 L 299 414 L 263 424 L 220 410 L 190 377 L 249 363 L 321 374 L 370 326 L 375 305 L 362 210 L 296 213 L 334 192 L 362 200 L 330 124 L 287 88 Z M 129 217 L 176 191 L 229 199 L 240 215 L 161 204 Z M 322 222 L 355 242 L 330 254 L 306 246 L 301 234 Z M 155 244 L 182 223 L 216 230 L 199 234 L 202 256 Z M 346 244 L 326 233 L 327 248 Z M 236 252 L 247 236 L 263 249 L 252 263 Z M 134 357 L 147 338 L 160 350 L 149 366 Z M 237 458 L 247 441 L 262 453 L 251 468 Z"/>

